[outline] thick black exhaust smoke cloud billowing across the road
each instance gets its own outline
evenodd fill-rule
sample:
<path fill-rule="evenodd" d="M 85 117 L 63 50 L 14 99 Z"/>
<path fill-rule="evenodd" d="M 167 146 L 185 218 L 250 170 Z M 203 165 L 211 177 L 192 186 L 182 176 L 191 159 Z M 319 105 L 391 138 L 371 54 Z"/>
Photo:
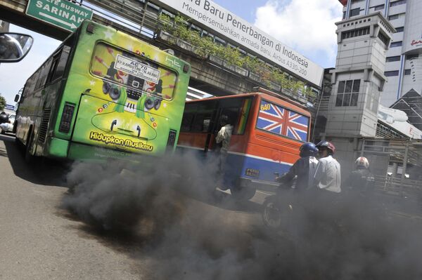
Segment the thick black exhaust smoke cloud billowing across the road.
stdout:
<path fill-rule="evenodd" d="M 149 279 L 422 277 L 420 222 L 390 215 L 381 196 L 325 207 L 314 195 L 298 202 L 286 194 L 294 226 L 274 233 L 260 206 L 216 191 L 218 178 L 216 159 L 193 154 L 76 163 L 63 206 L 93 227 L 145 240 L 136 257 L 152 259 Z"/>

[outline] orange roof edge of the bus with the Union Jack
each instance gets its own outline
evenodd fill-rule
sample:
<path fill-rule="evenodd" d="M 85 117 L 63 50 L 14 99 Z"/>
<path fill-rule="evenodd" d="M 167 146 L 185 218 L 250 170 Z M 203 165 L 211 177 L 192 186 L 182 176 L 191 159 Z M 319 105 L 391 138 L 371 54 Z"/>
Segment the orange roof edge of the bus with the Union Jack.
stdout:
<path fill-rule="evenodd" d="M 301 105 L 298 102 L 295 102 L 293 100 L 288 100 L 287 98 L 281 98 L 279 95 L 272 95 L 262 92 L 255 92 L 255 93 L 241 93 L 236 95 L 224 95 L 224 96 L 215 96 L 211 98 L 203 98 L 198 100 L 189 100 L 186 101 L 186 103 L 193 103 L 193 102 L 201 102 L 205 100 L 220 100 L 220 99 L 229 99 L 229 98 L 242 98 L 242 97 L 248 97 L 248 96 L 261 96 L 262 98 L 265 98 L 268 101 L 275 102 L 278 105 L 281 105 L 283 107 L 286 107 L 288 109 L 293 109 L 293 111 L 298 112 L 300 114 L 311 116 L 311 114 L 307 111 L 306 107 Z"/>

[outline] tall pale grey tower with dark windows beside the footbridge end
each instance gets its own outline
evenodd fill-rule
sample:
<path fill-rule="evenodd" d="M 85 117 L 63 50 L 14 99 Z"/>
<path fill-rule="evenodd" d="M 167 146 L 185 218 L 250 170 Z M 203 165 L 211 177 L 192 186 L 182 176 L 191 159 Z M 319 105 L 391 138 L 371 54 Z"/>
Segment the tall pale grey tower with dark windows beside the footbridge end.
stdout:
<path fill-rule="evenodd" d="M 381 13 L 336 22 L 338 51 L 326 135 L 374 137 L 378 100 L 385 86 L 385 56 L 395 31 Z"/>

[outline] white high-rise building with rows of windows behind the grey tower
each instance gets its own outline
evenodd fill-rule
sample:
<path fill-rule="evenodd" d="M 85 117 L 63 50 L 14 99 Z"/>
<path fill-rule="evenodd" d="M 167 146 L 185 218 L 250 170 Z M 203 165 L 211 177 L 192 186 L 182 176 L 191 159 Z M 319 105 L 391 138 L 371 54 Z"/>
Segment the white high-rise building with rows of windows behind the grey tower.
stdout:
<path fill-rule="evenodd" d="M 390 107 L 414 88 L 422 93 L 422 0 L 339 0 L 343 19 L 381 12 L 396 32 L 385 58 L 381 105 Z"/>

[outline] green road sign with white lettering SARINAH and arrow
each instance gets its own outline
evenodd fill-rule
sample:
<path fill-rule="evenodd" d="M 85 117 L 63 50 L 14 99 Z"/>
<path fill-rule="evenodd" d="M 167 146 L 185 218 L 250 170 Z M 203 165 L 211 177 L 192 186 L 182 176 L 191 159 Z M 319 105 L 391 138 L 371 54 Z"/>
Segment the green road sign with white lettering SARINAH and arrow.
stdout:
<path fill-rule="evenodd" d="M 67 0 L 29 0 L 26 14 L 69 31 L 75 31 L 83 20 L 92 18 L 89 8 Z"/>

